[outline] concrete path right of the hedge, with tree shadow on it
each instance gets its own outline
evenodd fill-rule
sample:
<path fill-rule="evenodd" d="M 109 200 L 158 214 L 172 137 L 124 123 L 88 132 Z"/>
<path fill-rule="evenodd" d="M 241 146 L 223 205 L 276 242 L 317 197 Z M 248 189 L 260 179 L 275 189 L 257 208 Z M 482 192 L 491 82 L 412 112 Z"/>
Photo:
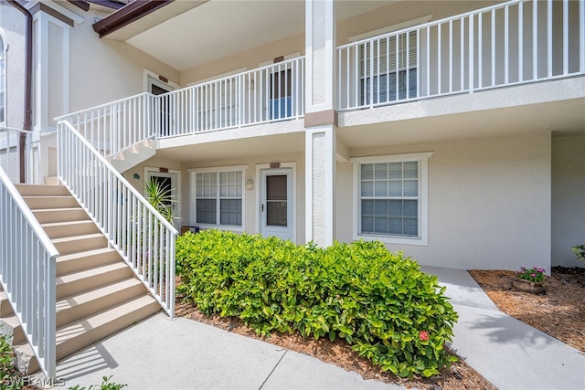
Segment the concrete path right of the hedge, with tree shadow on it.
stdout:
<path fill-rule="evenodd" d="M 467 271 L 422 269 L 439 277 L 459 313 L 452 349 L 493 385 L 514 390 L 585 388 L 585 354 L 499 311 Z"/>

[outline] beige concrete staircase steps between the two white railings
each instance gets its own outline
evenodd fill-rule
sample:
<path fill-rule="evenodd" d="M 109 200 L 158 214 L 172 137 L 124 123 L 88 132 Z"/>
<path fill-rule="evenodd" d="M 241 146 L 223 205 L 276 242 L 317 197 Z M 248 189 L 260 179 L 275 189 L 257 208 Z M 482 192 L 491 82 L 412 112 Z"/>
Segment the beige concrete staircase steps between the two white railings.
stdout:
<path fill-rule="evenodd" d="M 60 185 L 17 184 L 61 256 L 57 259 L 57 360 L 160 311 L 90 217 Z M 4 292 L 0 332 L 12 336 L 21 371 L 37 360 Z"/>

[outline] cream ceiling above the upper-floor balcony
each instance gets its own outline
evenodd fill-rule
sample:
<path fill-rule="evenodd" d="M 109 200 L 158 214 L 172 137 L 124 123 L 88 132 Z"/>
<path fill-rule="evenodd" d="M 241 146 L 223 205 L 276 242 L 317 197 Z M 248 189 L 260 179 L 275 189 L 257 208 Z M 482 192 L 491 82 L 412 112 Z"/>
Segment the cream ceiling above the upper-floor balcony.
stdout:
<path fill-rule="evenodd" d="M 338 0 L 335 15 L 338 21 L 345 20 L 396 2 Z M 186 9 L 189 3 L 190 9 Z M 172 68 L 185 71 L 304 32 L 304 1 L 189 3 L 173 2 L 106 38 L 126 41 Z"/>

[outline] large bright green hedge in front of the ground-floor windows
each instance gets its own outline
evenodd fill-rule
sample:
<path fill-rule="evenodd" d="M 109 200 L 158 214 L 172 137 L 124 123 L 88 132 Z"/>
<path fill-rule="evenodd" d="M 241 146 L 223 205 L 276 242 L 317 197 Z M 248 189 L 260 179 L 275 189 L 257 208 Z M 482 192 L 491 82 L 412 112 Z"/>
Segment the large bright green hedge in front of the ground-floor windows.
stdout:
<path fill-rule="evenodd" d="M 299 247 L 275 237 L 206 230 L 176 241 L 179 293 L 206 314 L 259 334 L 346 339 L 384 371 L 439 374 L 457 314 L 434 276 L 379 242 Z"/>

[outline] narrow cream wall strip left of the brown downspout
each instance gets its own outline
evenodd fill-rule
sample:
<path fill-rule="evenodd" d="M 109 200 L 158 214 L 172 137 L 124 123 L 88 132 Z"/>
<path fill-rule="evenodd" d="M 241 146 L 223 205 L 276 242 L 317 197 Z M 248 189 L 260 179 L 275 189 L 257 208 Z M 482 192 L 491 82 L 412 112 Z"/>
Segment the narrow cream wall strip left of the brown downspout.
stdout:
<path fill-rule="evenodd" d="M 12 5 L 0 2 L 0 29 L 6 55 L 6 127 L 22 129 L 25 101 L 26 17 Z"/>

